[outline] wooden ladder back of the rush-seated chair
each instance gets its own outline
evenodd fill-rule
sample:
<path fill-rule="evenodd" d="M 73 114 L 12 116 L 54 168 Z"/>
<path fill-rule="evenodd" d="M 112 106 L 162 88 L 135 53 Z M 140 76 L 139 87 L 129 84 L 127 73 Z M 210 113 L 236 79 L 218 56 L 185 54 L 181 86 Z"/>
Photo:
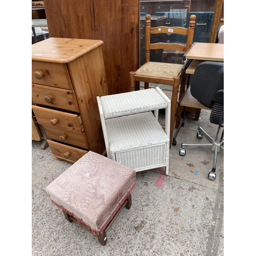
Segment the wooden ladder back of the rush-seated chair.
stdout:
<path fill-rule="evenodd" d="M 182 28 L 182 27 L 166 27 L 160 26 L 151 28 L 151 15 L 146 15 L 146 22 L 145 22 L 145 62 L 150 61 L 150 50 L 157 50 L 157 49 L 164 49 L 164 50 L 176 50 L 186 52 L 188 48 L 192 45 L 193 35 L 194 35 L 194 28 L 195 28 L 195 15 L 191 15 L 189 27 Z M 152 42 L 151 43 L 151 35 L 152 34 L 159 34 L 159 39 L 164 39 L 163 34 L 180 34 L 186 35 L 187 40 L 186 44 L 177 44 L 177 43 L 166 43 L 164 42 Z"/>

